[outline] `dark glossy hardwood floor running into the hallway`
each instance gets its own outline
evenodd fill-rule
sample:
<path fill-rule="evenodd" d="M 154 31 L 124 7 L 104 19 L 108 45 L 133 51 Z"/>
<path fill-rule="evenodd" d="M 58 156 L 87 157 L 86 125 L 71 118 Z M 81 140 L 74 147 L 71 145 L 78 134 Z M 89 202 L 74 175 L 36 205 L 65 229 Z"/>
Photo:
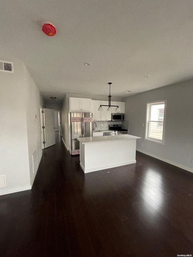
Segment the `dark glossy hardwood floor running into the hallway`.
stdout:
<path fill-rule="evenodd" d="M 137 152 L 84 175 L 56 139 L 32 190 L 0 196 L 1 257 L 193 254 L 193 174 Z"/>

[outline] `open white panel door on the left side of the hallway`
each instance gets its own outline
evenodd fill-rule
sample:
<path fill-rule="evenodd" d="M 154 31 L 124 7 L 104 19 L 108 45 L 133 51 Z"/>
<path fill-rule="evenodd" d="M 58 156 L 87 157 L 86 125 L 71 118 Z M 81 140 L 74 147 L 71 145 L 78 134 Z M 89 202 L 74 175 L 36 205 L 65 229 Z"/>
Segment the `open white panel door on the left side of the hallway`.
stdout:
<path fill-rule="evenodd" d="M 43 108 L 45 148 L 55 145 L 54 110 Z"/>

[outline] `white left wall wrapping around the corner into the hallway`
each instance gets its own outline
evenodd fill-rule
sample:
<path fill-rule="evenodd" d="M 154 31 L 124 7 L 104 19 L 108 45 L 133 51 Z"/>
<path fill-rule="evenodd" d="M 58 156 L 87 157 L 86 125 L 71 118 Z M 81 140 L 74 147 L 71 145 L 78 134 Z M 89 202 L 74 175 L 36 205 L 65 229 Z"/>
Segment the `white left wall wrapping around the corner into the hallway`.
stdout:
<path fill-rule="evenodd" d="M 3 60 L 14 62 L 14 73 L 0 72 L 0 175 L 7 182 L 0 195 L 31 188 L 32 152 L 41 153 L 39 105 L 43 104 L 23 62 Z"/>

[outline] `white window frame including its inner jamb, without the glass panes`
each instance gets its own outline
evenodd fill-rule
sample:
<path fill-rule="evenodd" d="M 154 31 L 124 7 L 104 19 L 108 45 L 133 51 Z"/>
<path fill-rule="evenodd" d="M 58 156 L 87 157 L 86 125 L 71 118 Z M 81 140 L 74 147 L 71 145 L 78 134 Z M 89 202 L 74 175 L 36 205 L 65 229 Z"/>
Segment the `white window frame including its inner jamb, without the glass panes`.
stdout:
<path fill-rule="evenodd" d="M 157 104 L 164 104 L 164 114 L 163 114 L 163 133 L 162 133 L 162 140 L 159 139 L 154 139 L 148 137 L 149 133 L 149 122 L 150 122 L 150 113 L 151 113 L 151 106 L 152 105 L 157 105 Z M 166 125 L 166 105 L 167 105 L 167 100 L 157 100 L 157 101 L 152 101 L 152 102 L 146 102 L 146 113 L 145 113 L 145 134 L 144 134 L 144 140 L 152 142 L 152 143 L 157 143 L 164 145 L 164 139 L 165 139 L 165 125 Z"/>

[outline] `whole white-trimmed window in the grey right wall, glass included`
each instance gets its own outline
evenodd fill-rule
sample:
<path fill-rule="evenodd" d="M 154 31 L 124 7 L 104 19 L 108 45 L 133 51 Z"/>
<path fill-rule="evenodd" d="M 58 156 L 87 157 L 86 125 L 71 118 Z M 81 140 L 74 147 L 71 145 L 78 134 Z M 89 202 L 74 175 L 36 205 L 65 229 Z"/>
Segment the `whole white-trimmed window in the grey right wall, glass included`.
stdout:
<path fill-rule="evenodd" d="M 166 100 L 148 102 L 146 105 L 145 140 L 164 144 Z"/>

